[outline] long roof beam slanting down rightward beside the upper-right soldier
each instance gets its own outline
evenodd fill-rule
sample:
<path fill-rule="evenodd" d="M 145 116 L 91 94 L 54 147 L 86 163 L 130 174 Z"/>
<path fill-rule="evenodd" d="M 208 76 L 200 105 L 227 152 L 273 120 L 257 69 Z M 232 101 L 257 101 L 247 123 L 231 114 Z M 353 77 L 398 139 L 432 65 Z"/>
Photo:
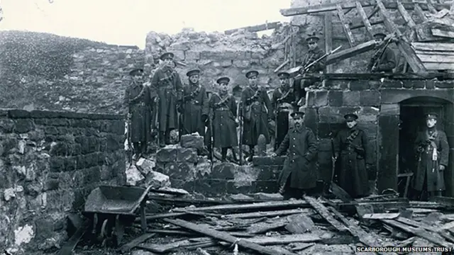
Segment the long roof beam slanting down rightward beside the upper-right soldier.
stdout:
<path fill-rule="evenodd" d="M 400 52 L 404 55 L 406 62 L 410 65 L 411 69 L 415 73 L 427 73 L 426 67 L 424 67 L 419 57 L 416 56 L 414 50 L 411 49 L 411 46 L 405 42 L 402 43 L 402 38 L 404 35 L 400 32 L 399 28 L 397 28 L 396 24 L 392 21 L 391 16 L 387 9 L 384 7 L 382 0 L 377 0 L 377 6 L 380 8 L 380 14 L 384 21 L 384 26 L 389 30 L 390 33 L 396 33 L 397 38 L 399 38 L 399 42 L 397 42 L 397 46 L 399 47 Z"/>

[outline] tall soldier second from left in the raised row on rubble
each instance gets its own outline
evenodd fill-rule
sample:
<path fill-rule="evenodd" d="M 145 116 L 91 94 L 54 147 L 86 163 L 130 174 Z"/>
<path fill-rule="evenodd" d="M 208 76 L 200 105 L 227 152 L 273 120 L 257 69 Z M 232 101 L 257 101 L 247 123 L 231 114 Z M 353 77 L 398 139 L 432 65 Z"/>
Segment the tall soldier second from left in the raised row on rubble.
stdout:
<path fill-rule="evenodd" d="M 178 128 L 177 102 L 182 98 L 182 81 L 174 69 L 173 53 L 165 52 L 160 56 L 163 67 L 156 70 L 151 80 L 151 89 L 156 91 L 158 106 L 158 126 L 160 147 L 170 145 L 170 131 Z"/>

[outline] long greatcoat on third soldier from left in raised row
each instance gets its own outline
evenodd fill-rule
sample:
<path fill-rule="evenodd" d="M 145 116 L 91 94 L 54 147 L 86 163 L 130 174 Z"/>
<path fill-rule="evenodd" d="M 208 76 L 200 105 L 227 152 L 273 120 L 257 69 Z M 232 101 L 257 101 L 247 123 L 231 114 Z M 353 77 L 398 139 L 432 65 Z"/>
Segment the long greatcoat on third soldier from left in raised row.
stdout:
<path fill-rule="evenodd" d="M 184 86 L 182 107 L 182 135 L 199 132 L 205 135 L 205 123 L 201 116 L 208 116 L 208 96 L 204 86 L 192 84 Z"/>

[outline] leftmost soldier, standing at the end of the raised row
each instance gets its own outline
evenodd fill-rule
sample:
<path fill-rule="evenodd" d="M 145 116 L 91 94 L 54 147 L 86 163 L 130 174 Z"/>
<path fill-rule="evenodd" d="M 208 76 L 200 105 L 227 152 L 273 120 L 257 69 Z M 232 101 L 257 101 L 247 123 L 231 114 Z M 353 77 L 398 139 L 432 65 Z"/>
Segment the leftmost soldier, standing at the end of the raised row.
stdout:
<path fill-rule="evenodd" d="M 128 140 L 133 144 L 133 159 L 146 152 L 151 138 L 150 87 L 143 85 L 143 69 L 129 72 L 133 81 L 126 88 L 123 111 L 128 114 Z"/>

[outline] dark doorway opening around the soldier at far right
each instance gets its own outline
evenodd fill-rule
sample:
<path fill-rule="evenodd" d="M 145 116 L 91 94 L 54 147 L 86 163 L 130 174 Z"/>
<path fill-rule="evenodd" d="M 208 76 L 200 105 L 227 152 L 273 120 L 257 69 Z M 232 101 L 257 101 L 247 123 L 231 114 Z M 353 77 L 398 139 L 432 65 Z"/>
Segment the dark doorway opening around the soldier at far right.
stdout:
<path fill-rule="evenodd" d="M 446 131 L 450 126 L 448 123 L 453 121 L 453 116 L 447 115 L 450 110 L 452 110 L 451 103 L 437 98 L 411 98 L 401 103 L 399 123 L 399 169 L 397 171 L 399 176 L 398 192 L 401 196 L 404 196 L 406 190 L 408 191 L 406 197 L 412 198 L 414 195 L 411 190 L 411 183 L 408 185 L 408 181 L 412 179 L 409 177 L 410 173 L 416 171 L 418 159 L 414 150 L 414 141 L 416 140 L 418 132 L 421 132 L 426 128 L 425 115 L 427 113 L 437 113 L 437 128 Z M 448 135 L 450 132 L 446 133 Z M 453 147 L 453 145 L 450 145 L 450 147 Z M 451 164 L 451 166 L 448 166 L 448 173 L 445 173 L 445 196 L 450 196 L 450 193 L 452 193 L 450 191 L 453 186 L 452 181 L 450 181 L 452 168 L 453 166 Z"/>

